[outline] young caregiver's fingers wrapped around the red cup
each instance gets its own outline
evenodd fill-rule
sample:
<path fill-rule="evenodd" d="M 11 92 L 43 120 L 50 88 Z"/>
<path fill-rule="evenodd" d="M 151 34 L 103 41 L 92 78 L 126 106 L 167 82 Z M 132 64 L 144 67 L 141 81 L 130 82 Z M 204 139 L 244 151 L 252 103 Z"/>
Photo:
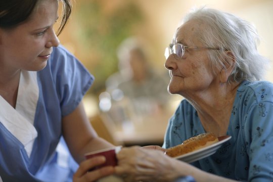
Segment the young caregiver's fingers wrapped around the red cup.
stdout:
<path fill-rule="evenodd" d="M 105 162 L 104 156 L 93 157 L 87 160 L 84 160 L 80 163 L 78 170 L 74 173 L 73 182 L 92 182 L 96 181 L 102 177 L 111 175 L 114 173 L 113 166 L 102 167 L 97 170 L 88 171 L 93 167 L 96 167 Z"/>

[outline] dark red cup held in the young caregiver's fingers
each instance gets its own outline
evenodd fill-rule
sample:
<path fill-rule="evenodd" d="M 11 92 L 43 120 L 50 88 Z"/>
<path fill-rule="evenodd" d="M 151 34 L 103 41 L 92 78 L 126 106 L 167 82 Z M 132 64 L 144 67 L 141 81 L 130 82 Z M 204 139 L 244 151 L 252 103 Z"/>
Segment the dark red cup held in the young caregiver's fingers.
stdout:
<path fill-rule="evenodd" d="M 99 168 L 105 167 L 105 166 L 116 166 L 117 165 L 116 154 L 121 150 L 121 148 L 122 148 L 122 146 L 117 146 L 117 147 L 113 147 L 113 148 L 98 150 L 98 151 L 89 152 L 89 153 L 84 154 L 86 159 L 89 159 L 89 158 L 92 158 L 95 156 L 104 156 L 106 158 L 105 163 L 90 169 L 90 171 L 95 170 L 95 169 L 99 169 Z"/>

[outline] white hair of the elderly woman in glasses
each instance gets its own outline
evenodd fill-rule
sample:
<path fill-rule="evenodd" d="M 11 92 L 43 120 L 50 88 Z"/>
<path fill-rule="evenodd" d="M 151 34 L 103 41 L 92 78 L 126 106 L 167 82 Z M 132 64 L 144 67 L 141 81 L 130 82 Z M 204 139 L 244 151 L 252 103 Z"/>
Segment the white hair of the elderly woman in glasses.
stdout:
<path fill-rule="evenodd" d="M 197 37 L 207 47 L 219 47 L 233 53 L 235 69 L 229 81 L 261 80 L 266 73 L 269 60 L 262 57 L 256 48 L 259 42 L 255 28 L 247 21 L 232 14 L 209 8 L 201 8 L 189 13 L 183 23 L 195 20 L 202 25 Z M 225 68 L 225 51 L 209 51 L 214 70 Z"/>

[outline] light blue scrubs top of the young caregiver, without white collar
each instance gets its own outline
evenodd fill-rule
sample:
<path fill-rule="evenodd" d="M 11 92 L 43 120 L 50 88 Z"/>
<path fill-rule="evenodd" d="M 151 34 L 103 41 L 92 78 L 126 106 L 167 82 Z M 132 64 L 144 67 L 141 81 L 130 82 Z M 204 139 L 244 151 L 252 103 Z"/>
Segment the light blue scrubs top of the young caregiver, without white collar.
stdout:
<path fill-rule="evenodd" d="M 58 166 L 56 159 L 61 119 L 78 106 L 93 81 L 94 77 L 62 45 L 53 48 L 47 66 L 37 72 L 39 96 L 33 125 L 38 135 L 30 157 L 0 121 L 0 176 L 4 182 L 71 180 L 66 177 L 71 177 L 70 169 Z M 72 158 L 70 162 L 76 167 Z"/>

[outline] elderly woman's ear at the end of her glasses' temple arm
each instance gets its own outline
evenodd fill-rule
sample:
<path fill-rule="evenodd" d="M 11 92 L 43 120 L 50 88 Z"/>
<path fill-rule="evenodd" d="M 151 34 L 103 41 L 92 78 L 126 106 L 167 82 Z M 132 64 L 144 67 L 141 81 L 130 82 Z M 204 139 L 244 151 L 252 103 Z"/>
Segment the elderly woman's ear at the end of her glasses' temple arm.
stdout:
<path fill-rule="evenodd" d="M 235 68 L 236 60 L 231 51 L 225 51 L 224 67 L 219 72 L 219 78 L 221 83 L 228 81 L 232 71 Z"/>

